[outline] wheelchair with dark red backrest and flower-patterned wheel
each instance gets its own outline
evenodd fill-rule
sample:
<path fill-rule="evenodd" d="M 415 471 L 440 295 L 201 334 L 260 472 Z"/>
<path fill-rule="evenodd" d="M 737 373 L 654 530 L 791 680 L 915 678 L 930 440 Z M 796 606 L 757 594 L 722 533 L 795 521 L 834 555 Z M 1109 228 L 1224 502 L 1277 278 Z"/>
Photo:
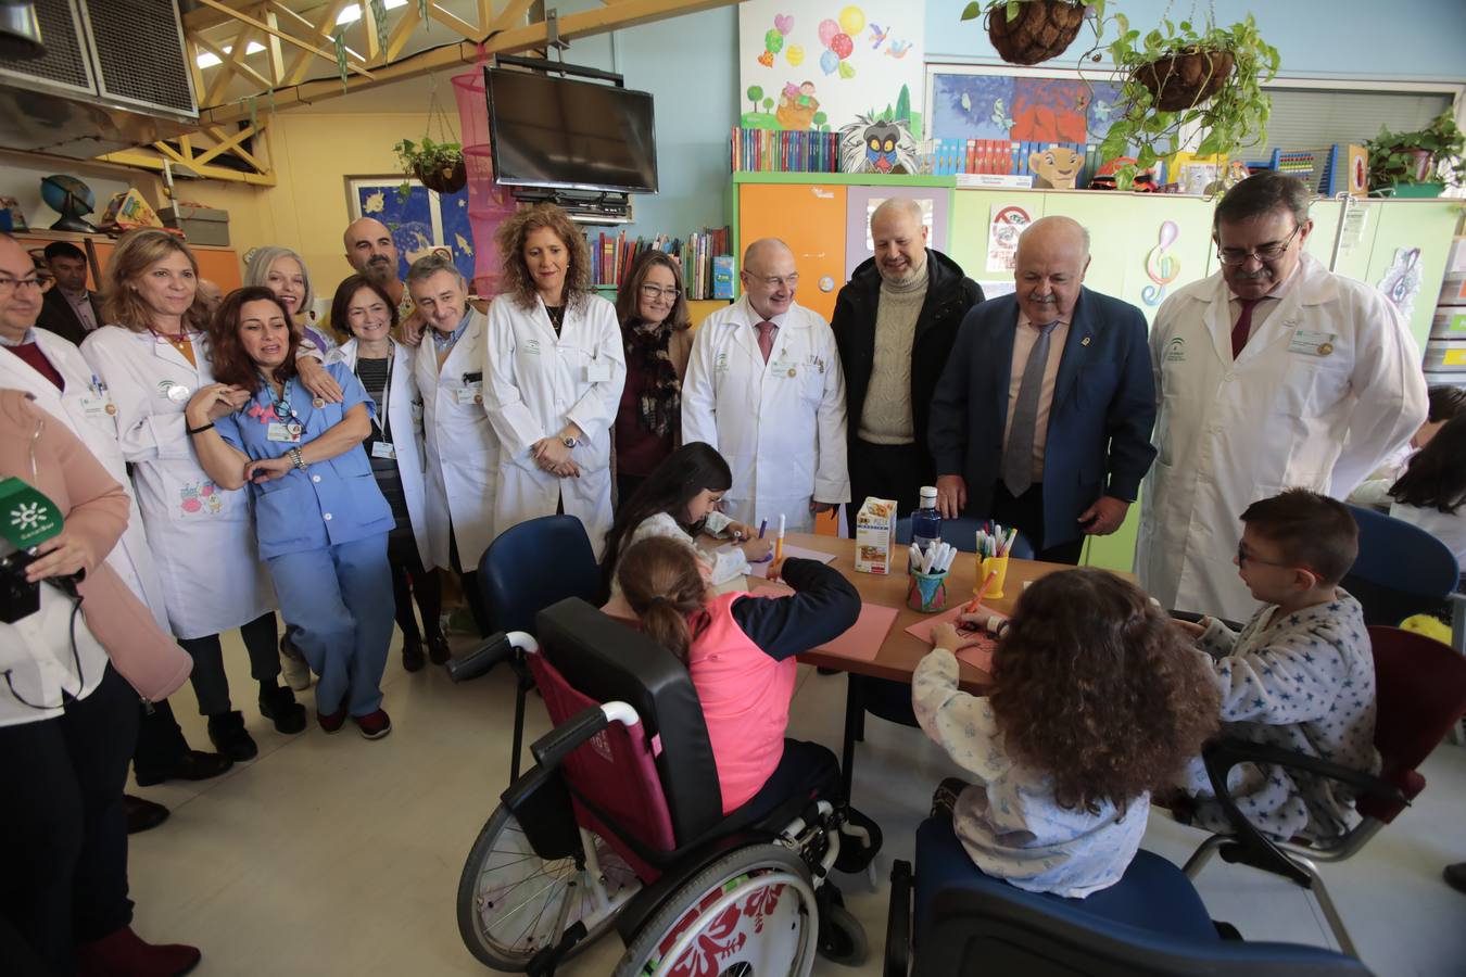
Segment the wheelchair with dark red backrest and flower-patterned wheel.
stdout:
<path fill-rule="evenodd" d="M 541 611 L 537 628 L 538 643 L 513 631 L 450 665 L 463 681 L 517 649 L 556 724 L 463 864 L 469 952 L 553 974 L 614 927 L 626 946 L 614 977 L 784 977 L 808 974 L 817 952 L 863 962 L 865 933 L 828 874 L 841 839 L 856 845 L 846 863 L 868 866 L 878 832 L 817 792 L 724 816 L 682 662 L 579 598 Z"/>

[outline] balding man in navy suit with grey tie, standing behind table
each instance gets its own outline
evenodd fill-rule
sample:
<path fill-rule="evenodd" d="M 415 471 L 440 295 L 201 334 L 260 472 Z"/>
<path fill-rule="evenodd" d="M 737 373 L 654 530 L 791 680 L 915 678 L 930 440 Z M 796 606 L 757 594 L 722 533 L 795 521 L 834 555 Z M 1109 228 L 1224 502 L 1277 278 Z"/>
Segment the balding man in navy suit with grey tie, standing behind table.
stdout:
<path fill-rule="evenodd" d="M 1085 289 L 1088 267 L 1083 227 L 1035 221 L 1017 291 L 968 313 L 931 403 L 943 516 L 1017 526 L 1051 562 L 1119 529 L 1155 458 L 1145 318 Z"/>

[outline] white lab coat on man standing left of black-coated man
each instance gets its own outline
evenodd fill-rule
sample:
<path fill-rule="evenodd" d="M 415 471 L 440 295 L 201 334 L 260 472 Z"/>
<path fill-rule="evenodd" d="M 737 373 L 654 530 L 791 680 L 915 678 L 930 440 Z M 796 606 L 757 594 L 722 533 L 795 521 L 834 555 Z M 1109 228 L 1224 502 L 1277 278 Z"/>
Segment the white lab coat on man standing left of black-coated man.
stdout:
<path fill-rule="evenodd" d="M 723 504 L 736 521 L 783 516 L 789 532 L 808 533 L 811 498 L 850 501 L 840 353 L 830 324 L 795 303 L 776 319 L 765 363 L 761 319 L 743 296 L 698 328 L 682 384 L 682 439 L 727 458 L 733 486 Z"/>

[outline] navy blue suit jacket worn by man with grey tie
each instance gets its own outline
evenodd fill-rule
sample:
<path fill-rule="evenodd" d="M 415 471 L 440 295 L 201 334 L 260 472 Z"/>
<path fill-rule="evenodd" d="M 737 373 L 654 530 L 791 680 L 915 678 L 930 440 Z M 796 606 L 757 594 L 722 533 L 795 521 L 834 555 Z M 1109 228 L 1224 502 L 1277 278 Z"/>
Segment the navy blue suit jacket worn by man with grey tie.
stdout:
<path fill-rule="evenodd" d="M 928 441 L 938 475 L 968 482 L 966 514 L 988 516 L 1001 478 L 1017 296 L 975 306 L 931 400 Z M 1044 540 L 1082 535 L 1079 514 L 1101 495 L 1135 501 L 1155 458 L 1155 379 L 1145 316 L 1080 289 L 1058 360 L 1044 447 Z"/>

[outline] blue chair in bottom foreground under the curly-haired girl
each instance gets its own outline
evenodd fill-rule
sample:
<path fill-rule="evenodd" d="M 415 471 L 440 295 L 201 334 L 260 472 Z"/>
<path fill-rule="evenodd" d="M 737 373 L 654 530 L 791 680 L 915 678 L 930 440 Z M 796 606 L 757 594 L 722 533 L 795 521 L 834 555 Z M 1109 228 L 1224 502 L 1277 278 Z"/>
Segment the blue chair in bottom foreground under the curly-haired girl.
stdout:
<path fill-rule="evenodd" d="M 951 822 L 932 817 L 916 829 L 915 914 L 912 889 L 910 866 L 897 861 L 885 977 L 1369 973 L 1358 959 L 1324 948 L 1223 939 L 1182 870 L 1148 851 L 1138 851 L 1108 889 L 1066 899 L 982 874 Z"/>

